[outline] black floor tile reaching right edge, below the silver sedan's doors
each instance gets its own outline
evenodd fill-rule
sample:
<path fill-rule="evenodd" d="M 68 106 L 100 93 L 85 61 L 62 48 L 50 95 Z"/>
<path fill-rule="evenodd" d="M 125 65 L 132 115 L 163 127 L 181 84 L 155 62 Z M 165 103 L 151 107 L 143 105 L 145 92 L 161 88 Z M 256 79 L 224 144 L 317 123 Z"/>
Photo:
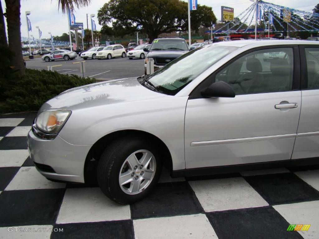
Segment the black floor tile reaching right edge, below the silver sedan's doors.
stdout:
<path fill-rule="evenodd" d="M 319 192 L 293 173 L 244 178 L 270 205 L 319 199 Z"/>

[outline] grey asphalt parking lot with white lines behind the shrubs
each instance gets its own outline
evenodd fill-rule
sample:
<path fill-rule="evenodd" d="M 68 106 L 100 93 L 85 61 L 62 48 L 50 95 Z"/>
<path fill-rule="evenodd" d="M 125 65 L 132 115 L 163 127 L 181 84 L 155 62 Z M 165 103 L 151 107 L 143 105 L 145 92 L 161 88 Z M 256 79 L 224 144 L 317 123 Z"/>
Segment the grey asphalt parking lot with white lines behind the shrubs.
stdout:
<path fill-rule="evenodd" d="M 54 62 L 45 62 L 42 61 L 41 58 L 34 58 L 26 61 L 26 67 L 30 69 L 47 70 L 48 66 L 52 66 L 53 70 L 61 74 L 82 76 L 80 72 L 80 62 L 82 61 L 85 61 L 85 77 L 113 80 L 144 75 L 144 60 L 129 60 L 127 57 L 117 57 L 111 60 L 84 60 L 77 56 L 74 60 L 56 60 Z"/>

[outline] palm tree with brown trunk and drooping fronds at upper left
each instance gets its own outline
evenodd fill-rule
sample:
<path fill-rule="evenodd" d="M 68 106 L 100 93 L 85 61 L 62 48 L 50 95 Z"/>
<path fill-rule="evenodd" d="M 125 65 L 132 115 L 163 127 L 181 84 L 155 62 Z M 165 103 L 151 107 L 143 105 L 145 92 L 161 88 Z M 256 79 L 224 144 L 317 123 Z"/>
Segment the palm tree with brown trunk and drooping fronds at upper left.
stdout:
<path fill-rule="evenodd" d="M 57 0 L 58 9 L 61 8 L 65 13 L 67 9 L 74 9 L 74 7 L 80 8 L 88 6 L 91 0 Z M 12 52 L 11 66 L 13 69 L 17 69 L 19 74 L 23 76 L 25 74 L 25 66 L 23 63 L 22 51 L 21 51 L 21 18 L 20 18 L 20 0 L 5 0 L 8 27 L 8 40 L 9 49 Z M 4 26 L 3 26 L 4 27 Z"/>

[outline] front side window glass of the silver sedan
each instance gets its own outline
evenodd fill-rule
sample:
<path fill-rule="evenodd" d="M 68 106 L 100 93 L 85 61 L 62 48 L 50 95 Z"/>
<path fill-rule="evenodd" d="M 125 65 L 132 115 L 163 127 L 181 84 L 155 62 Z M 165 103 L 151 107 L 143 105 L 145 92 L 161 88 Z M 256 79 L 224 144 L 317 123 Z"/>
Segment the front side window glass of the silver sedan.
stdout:
<path fill-rule="evenodd" d="M 215 81 L 229 83 L 236 95 L 292 90 L 293 48 L 251 52 L 220 70 Z"/>

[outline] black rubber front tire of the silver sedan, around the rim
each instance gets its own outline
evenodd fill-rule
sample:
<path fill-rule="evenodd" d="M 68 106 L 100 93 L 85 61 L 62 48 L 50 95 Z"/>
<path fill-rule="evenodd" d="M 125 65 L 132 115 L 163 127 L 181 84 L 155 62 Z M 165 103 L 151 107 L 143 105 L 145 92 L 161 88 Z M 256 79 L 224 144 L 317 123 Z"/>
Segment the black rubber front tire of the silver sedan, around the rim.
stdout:
<path fill-rule="evenodd" d="M 161 154 L 159 149 L 150 140 L 136 136 L 128 136 L 118 139 L 107 146 L 100 157 L 97 168 L 97 180 L 102 192 L 111 200 L 130 204 L 143 199 L 157 184 L 162 170 Z M 133 152 L 137 150 L 148 150 L 155 158 L 156 168 L 154 177 L 148 186 L 137 194 L 123 192 L 119 183 L 119 173 L 122 165 Z"/>

